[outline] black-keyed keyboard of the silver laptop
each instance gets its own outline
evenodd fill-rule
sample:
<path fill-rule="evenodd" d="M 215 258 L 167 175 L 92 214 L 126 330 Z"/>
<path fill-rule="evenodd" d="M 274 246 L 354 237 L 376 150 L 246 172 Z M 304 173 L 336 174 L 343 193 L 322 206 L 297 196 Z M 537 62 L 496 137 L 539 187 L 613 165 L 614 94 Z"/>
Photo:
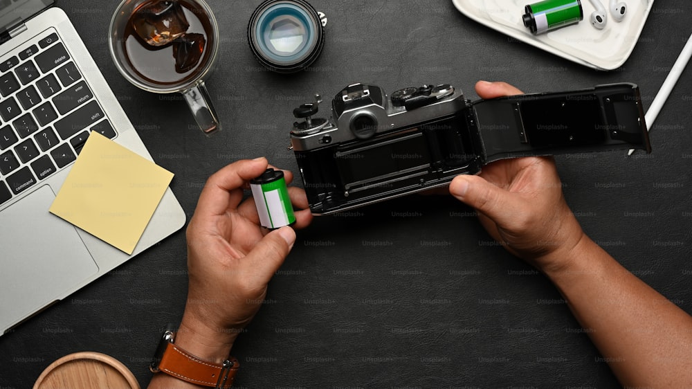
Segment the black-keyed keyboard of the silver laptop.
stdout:
<path fill-rule="evenodd" d="M 0 205 L 70 165 L 89 132 L 116 132 L 57 33 L 0 60 Z"/>

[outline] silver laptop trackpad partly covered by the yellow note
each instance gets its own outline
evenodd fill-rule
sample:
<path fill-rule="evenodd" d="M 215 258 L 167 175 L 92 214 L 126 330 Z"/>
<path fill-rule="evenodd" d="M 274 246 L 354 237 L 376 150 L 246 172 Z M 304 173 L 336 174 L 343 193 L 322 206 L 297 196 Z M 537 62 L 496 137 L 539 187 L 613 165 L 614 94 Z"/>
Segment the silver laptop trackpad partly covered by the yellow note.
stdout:
<path fill-rule="evenodd" d="M 53 199 L 53 190 L 43 186 L 0 212 L 3 321 L 63 298 L 98 271 L 75 227 L 48 212 Z"/>

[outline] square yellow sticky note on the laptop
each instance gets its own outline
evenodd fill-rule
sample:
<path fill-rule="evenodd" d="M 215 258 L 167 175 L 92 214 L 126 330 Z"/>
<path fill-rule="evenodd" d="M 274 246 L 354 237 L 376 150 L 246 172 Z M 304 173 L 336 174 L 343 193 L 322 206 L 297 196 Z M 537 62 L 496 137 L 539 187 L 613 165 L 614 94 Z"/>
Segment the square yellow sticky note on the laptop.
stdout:
<path fill-rule="evenodd" d="M 131 254 L 173 173 L 91 132 L 51 213 Z"/>

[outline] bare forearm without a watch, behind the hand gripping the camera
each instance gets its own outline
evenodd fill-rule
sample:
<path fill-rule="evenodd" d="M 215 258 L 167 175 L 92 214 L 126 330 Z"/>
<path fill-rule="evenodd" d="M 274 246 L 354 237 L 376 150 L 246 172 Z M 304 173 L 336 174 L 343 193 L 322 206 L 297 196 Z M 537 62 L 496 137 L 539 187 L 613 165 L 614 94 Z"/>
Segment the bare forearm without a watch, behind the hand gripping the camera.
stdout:
<path fill-rule="evenodd" d="M 624 386 L 692 386 L 692 317 L 584 236 L 546 271 Z"/>

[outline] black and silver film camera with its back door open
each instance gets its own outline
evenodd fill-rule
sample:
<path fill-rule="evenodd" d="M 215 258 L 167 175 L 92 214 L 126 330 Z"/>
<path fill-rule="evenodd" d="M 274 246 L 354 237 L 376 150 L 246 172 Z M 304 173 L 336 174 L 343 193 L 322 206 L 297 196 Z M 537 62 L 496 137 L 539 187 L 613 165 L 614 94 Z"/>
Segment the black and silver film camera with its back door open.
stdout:
<path fill-rule="evenodd" d="M 562 93 L 465 100 L 449 84 L 400 89 L 352 84 L 331 102 L 293 111 L 291 147 L 315 215 L 446 186 L 487 163 L 640 149 L 651 152 L 639 88 L 608 84 Z"/>

